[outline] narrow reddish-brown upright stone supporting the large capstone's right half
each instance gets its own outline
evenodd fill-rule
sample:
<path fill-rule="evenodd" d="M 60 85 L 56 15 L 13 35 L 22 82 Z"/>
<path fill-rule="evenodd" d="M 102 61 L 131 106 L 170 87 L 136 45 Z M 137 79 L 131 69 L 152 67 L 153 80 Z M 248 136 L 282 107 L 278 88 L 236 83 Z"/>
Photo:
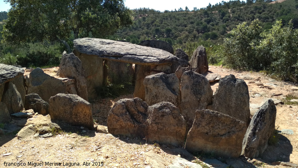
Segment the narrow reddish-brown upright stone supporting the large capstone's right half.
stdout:
<path fill-rule="evenodd" d="M 139 97 L 145 100 L 145 86 L 144 79 L 146 76 L 150 75 L 151 66 L 148 65 L 136 65 L 135 66 L 135 78 L 136 81 L 134 87 L 134 97 Z"/>

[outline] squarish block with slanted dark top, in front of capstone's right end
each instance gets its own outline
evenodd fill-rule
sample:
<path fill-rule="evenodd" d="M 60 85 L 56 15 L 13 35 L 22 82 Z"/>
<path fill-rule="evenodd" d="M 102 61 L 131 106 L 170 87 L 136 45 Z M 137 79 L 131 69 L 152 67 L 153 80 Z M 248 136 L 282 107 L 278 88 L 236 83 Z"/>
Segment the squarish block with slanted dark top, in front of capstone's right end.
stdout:
<path fill-rule="evenodd" d="M 180 106 L 180 82 L 175 74 L 159 73 L 145 77 L 145 102 L 150 106 L 162 101 Z"/>

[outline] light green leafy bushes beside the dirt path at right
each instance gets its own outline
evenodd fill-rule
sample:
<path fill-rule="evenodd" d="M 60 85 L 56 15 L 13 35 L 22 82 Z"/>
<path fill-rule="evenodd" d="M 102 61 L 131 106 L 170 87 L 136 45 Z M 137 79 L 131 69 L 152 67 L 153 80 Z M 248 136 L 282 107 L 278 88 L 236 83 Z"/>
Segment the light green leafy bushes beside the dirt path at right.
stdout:
<path fill-rule="evenodd" d="M 232 30 L 225 40 L 224 63 L 232 68 L 266 70 L 282 80 L 298 81 L 298 30 L 290 21 L 282 28 L 277 21 L 268 31 L 260 31 L 259 20 Z"/>

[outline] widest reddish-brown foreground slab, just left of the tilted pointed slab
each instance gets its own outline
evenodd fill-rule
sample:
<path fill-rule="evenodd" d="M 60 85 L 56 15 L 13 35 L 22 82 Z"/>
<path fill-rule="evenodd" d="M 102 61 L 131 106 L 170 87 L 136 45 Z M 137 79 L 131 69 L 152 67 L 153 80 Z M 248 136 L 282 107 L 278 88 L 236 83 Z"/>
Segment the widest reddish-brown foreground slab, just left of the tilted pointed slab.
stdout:
<path fill-rule="evenodd" d="M 212 110 L 196 111 L 185 149 L 237 158 L 241 154 L 246 123 Z"/>

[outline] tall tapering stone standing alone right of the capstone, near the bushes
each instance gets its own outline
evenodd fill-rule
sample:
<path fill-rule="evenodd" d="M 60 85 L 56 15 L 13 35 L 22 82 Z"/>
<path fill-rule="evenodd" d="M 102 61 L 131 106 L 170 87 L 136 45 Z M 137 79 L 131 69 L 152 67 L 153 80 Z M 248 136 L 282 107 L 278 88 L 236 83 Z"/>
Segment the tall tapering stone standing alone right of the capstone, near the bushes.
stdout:
<path fill-rule="evenodd" d="M 190 59 L 190 66 L 196 69 L 196 72 L 199 74 L 204 74 L 208 71 L 209 66 L 205 47 L 201 45 L 195 49 L 193 56 Z"/>

